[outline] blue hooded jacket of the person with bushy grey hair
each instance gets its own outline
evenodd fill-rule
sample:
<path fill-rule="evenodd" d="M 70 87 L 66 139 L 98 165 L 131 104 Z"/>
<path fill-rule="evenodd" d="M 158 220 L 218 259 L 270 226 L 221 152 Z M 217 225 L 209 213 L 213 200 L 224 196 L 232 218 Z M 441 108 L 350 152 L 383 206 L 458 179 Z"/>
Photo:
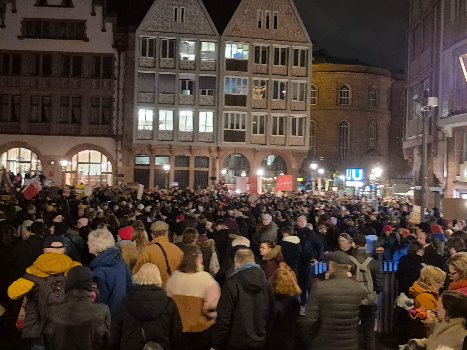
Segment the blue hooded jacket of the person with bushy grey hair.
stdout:
<path fill-rule="evenodd" d="M 100 302 L 108 305 L 113 314 L 119 308 L 127 291 L 133 287 L 131 271 L 121 252 L 115 248 L 108 248 L 100 252 L 92 260 L 89 268 L 92 271 L 92 280 L 99 288 Z"/>

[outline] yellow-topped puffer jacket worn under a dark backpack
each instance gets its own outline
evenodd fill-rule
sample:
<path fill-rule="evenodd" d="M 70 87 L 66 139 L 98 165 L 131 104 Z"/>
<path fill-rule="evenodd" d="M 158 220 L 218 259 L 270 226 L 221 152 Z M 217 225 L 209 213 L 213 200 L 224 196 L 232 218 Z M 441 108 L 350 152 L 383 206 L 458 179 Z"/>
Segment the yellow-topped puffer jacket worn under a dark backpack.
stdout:
<path fill-rule="evenodd" d="M 68 273 L 73 266 L 81 265 L 73 261 L 64 254 L 47 253 L 42 254 L 35 260 L 32 266 L 26 269 L 26 272 L 37 277 L 45 278 L 58 273 Z M 26 306 L 26 316 L 24 319 L 24 328 L 22 338 L 32 339 L 40 336 L 39 315 L 37 314 L 38 288 L 34 288 L 34 282 L 20 278 L 15 280 L 8 287 L 8 296 L 11 299 L 20 299 L 32 291 L 32 297 L 29 296 Z"/>

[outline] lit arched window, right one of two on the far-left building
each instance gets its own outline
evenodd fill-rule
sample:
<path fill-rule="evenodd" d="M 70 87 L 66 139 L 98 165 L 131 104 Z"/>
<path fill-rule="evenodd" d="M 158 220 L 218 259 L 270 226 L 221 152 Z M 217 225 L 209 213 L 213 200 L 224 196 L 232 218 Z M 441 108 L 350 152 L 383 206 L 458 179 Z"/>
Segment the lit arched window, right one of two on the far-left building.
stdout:
<path fill-rule="evenodd" d="M 90 184 L 93 186 L 113 183 L 112 163 L 99 151 L 86 150 L 75 154 L 65 171 L 67 185 Z"/>

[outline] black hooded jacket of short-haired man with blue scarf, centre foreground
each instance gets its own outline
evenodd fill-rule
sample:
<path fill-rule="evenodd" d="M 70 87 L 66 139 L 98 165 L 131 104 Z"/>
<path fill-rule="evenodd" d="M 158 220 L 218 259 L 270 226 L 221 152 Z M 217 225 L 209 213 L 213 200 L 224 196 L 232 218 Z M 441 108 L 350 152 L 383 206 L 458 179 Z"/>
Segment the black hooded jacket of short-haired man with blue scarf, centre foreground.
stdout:
<path fill-rule="evenodd" d="M 240 266 L 226 281 L 212 328 L 212 348 L 259 348 L 266 342 L 266 324 L 274 292 L 261 268 Z"/>

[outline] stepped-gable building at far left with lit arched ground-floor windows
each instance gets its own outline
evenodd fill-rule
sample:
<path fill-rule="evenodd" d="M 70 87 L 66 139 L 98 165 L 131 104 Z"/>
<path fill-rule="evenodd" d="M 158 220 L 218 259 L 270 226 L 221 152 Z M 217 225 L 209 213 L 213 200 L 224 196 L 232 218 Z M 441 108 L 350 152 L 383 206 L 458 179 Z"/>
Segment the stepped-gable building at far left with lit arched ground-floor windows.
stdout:
<path fill-rule="evenodd" d="M 59 185 L 112 184 L 123 58 L 105 1 L 0 6 L 1 165 L 23 177 L 42 171 Z"/>

